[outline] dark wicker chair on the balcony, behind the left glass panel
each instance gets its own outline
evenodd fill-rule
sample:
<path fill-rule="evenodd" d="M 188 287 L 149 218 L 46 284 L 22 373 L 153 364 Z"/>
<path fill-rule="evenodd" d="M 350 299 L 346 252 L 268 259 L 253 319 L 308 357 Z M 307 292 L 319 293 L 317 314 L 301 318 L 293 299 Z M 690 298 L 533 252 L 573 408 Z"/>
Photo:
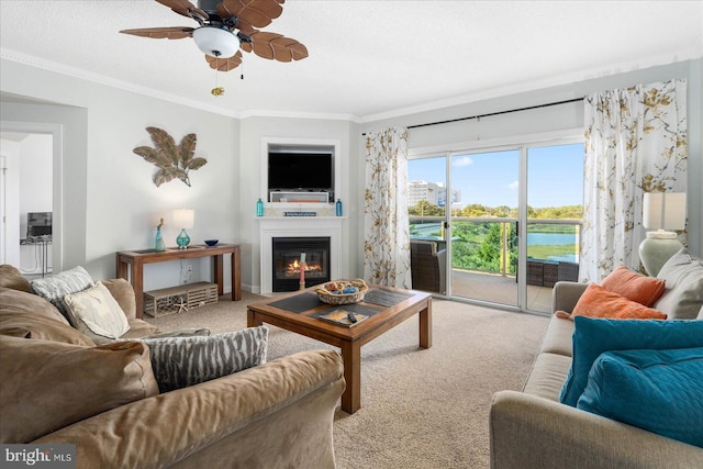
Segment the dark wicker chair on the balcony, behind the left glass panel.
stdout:
<path fill-rule="evenodd" d="M 437 293 L 447 291 L 447 252 L 446 249 L 437 250 L 437 243 L 411 239 L 410 265 L 413 289 Z"/>

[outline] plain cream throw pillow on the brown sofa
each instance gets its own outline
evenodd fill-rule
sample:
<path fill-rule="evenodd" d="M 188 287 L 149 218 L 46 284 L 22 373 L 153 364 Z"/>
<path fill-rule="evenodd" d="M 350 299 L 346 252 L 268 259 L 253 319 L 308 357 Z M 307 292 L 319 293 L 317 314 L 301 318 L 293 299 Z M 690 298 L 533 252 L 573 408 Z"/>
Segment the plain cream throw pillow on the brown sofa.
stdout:
<path fill-rule="evenodd" d="M 124 312 L 102 282 L 96 282 L 88 290 L 67 294 L 64 303 L 76 317 L 77 328 L 82 333 L 90 331 L 103 337 L 120 338 L 130 331 Z"/>

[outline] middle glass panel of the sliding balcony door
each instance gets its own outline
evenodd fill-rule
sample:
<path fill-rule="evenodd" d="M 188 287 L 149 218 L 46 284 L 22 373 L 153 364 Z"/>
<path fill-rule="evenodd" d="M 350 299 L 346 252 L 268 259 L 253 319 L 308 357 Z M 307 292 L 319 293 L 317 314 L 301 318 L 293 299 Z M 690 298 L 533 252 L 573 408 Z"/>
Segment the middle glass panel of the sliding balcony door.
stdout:
<path fill-rule="evenodd" d="M 450 157 L 451 294 L 517 306 L 520 152 Z"/>

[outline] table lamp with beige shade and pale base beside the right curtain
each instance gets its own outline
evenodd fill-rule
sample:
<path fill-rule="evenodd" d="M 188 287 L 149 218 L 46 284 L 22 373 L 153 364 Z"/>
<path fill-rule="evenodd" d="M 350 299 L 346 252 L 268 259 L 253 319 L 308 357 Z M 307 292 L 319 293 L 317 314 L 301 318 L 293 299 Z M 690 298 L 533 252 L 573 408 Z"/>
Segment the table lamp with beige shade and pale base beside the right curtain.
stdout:
<path fill-rule="evenodd" d="M 647 273 L 656 277 L 666 261 L 683 247 L 673 230 L 685 227 L 685 193 L 648 192 L 643 205 L 643 226 L 657 231 L 648 232 L 639 245 L 639 259 Z"/>

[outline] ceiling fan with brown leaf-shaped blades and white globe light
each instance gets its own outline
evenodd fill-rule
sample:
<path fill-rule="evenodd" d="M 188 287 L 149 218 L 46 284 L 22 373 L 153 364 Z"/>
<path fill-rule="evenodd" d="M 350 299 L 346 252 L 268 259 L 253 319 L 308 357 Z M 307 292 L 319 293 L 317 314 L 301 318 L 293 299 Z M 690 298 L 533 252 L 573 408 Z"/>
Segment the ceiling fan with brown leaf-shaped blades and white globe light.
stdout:
<path fill-rule="evenodd" d="M 242 64 L 242 51 L 278 62 L 308 57 L 308 48 L 298 41 L 277 33 L 258 31 L 283 12 L 286 0 L 156 0 L 172 11 L 191 18 L 199 27 L 170 26 L 123 30 L 142 37 L 182 40 L 192 37 L 205 54 L 210 67 L 230 71 Z"/>

